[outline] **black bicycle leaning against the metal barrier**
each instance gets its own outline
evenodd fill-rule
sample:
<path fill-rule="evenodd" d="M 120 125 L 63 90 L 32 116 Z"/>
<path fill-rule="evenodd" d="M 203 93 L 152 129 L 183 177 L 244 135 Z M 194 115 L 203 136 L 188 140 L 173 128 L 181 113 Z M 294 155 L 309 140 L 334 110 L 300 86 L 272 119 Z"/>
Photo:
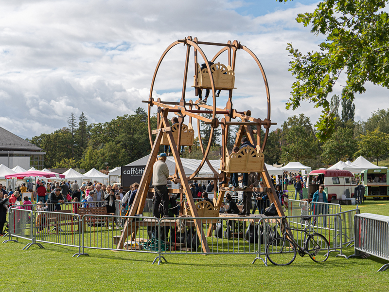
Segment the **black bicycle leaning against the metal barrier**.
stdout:
<path fill-rule="evenodd" d="M 277 266 L 287 266 L 296 258 L 296 249 L 299 255 L 308 255 L 315 262 L 325 262 L 330 254 L 330 248 L 327 239 L 318 233 L 309 233 L 307 223 L 312 217 L 303 217 L 305 220 L 305 228 L 297 229 L 287 227 L 285 224 L 286 216 L 281 219 L 281 232 L 283 237 L 273 238 L 266 246 L 266 256 L 271 263 Z M 304 232 L 304 240 L 301 247 L 293 236 L 289 234 L 289 230 Z"/>

